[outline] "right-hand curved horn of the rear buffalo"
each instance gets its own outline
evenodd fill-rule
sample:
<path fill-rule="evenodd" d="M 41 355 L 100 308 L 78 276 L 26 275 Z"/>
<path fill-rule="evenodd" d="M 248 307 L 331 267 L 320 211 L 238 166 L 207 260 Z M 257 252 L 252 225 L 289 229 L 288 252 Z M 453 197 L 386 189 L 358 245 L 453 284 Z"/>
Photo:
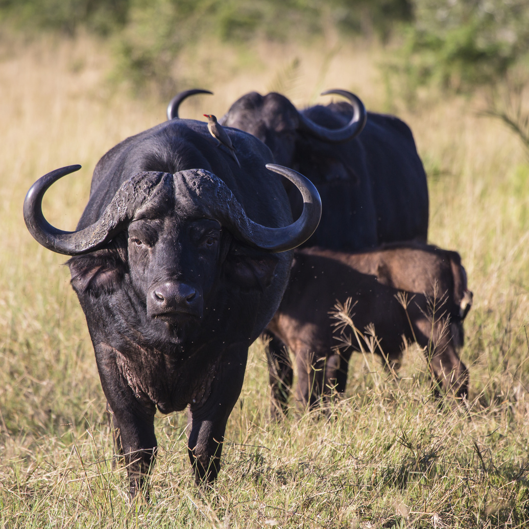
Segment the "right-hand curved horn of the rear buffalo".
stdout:
<path fill-rule="evenodd" d="M 348 92 L 347 90 L 327 90 L 326 92 L 321 93 L 322 96 L 330 94 L 336 94 L 348 99 L 349 103 L 353 107 L 353 117 L 351 118 L 349 124 L 342 127 L 342 129 L 327 129 L 326 127 L 322 127 L 321 125 L 314 123 L 314 121 L 309 120 L 309 118 L 303 113 L 298 112 L 300 125 L 318 140 L 330 143 L 341 143 L 343 141 L 352 140 L 358 136 L 360 132 L 362 132 L 364 125 L 366 125 L 366 107 L 359 97 L 355 96 L 351 92 Z"/>

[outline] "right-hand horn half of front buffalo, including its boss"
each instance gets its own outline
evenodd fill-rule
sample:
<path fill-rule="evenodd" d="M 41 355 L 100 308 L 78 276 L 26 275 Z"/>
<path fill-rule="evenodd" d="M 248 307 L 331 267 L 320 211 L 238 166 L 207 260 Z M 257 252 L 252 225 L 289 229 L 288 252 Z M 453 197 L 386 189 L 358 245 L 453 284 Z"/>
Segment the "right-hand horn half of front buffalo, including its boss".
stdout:
<path fill-rule="evenodd" d="M 206 216 L 217 218 L 236 239 L 261 250 L 286 252 L 303 244 L 316 230 L 322 215 L 320 194 L 312 182 L 298 172 L 267 164 L 267 169 L 285 176 L 303 195 L 303 212 L 298 220 L 288 226 L 271 228 L 253 222 L 224 182 L 203 169 L 191 169 L 175 174 L 177 196 L 183 211 L 202 208 Z"/>

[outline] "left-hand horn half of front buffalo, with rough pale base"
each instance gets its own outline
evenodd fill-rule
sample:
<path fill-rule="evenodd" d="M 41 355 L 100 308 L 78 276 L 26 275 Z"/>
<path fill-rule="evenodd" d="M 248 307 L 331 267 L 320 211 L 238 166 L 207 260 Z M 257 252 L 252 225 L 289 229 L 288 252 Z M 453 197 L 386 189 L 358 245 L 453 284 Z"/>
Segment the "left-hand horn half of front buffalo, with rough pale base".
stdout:
<path fill-rule="evenodd" d="M 24 199 L 24 221 L 33 238 L 48 250 L 67 256 L 93 251 L 110 241 L 133 218 L 139 203 L 153 194 L 163 176 L 172 178 L 163 172 L 141 172 L 122 184 L 97 222 L 83 230 L 62 231 L 44 218 L 42 197 L 59 178 L 80 168 L 72 165 L 49 172 L 30 187 Z"/>

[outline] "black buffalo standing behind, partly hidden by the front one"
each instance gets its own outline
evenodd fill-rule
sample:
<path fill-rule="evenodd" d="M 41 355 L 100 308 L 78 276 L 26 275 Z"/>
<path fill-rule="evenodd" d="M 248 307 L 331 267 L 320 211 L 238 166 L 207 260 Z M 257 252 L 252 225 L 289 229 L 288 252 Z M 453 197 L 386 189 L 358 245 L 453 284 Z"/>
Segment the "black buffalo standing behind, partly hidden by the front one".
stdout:
<path fill-rule="evenodd" d="M 188 96 L 175 96 L 168 117 Z M 329 90 L 349 103 L 316 105 L 298 111 L 285 96 L 251 92 L 219 120 L 264 142 L 276 163 L 301 172 L 318 189 L 322 219 L 304 244 L 357 251 L 396 241 L 426 241 L 428 189 L 409 127 L 395 116 L 366 112 L 345 90 Z M 287 184 L 294 217 L 302 203 Z"/>

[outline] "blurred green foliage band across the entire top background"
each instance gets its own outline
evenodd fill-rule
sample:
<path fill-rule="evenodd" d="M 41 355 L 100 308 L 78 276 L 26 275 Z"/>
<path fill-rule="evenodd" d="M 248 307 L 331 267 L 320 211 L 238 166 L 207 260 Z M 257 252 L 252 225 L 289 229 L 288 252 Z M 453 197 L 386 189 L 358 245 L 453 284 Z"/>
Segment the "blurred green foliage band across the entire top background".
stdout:
<path fill-rule="evenodd" d="M 472 92 L 529 64 L 526 0 L 0 0 L 0 20 L 26 34 L 82 28 L 110 39 L 115 77 L 162 97 L 178 86 L 181 51 L 204 41 L 308 42 L 331 31 L 391 43 L 385 66 L 408 99 L 432 83 Z"/>

